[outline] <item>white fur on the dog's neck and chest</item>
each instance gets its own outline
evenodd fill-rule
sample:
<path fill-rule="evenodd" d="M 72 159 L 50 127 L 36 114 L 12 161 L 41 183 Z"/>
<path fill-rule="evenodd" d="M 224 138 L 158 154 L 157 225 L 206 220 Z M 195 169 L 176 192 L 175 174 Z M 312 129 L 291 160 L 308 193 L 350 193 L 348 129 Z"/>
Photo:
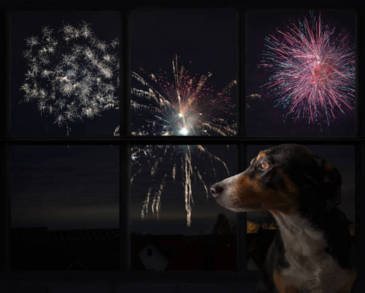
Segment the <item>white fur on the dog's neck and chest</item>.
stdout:
<path fill-rule="evenodd" d="M 285 285 L 294 285 L 300 293 L 337 293 L 348 274 L 326 253 L 323 232 L 299 215 L 277 213 L 275 219 L 289 263 L 281 272 Z"/>

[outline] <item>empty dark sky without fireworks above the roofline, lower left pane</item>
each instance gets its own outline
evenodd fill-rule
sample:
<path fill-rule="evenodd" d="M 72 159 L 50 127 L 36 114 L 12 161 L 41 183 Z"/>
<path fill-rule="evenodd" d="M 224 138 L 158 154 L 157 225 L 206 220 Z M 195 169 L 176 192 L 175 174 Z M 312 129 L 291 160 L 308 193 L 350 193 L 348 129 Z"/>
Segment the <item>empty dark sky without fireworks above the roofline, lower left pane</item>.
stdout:
<path fill-rule="evenodd" d="M 12 225 L 118 228 L 118 146 L 14 146 Z"/>

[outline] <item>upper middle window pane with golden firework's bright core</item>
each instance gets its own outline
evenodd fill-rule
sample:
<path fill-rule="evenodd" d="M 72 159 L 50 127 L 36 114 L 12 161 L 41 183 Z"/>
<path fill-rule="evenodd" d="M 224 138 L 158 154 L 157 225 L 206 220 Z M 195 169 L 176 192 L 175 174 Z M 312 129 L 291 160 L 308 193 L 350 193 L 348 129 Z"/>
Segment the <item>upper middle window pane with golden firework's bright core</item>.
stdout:
<path fill-rule="evenodd" d="M 131 22 L 132 135 L 235 135 L 236 12 L 132 11 Z"/>

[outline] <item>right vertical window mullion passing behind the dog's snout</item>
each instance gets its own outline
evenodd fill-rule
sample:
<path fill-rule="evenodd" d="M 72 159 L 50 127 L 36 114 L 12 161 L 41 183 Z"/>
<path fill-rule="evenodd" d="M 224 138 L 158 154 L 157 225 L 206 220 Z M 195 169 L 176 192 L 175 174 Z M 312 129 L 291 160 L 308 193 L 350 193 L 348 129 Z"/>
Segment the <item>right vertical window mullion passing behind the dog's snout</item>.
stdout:
<path fill-rule="evenodd" d="M 246 136 L 246 94 L 245 94 L 245 57 L 246 33 L 245 10 L 237 10 L 237 122 L 238 136 Z M 246 144 L 238 143 L 238 172 L 242 172 L 246 165 Z M 237 269 L 240 273 L 246 272 L 247 248 L 247 213 L 237 214 Z"/>

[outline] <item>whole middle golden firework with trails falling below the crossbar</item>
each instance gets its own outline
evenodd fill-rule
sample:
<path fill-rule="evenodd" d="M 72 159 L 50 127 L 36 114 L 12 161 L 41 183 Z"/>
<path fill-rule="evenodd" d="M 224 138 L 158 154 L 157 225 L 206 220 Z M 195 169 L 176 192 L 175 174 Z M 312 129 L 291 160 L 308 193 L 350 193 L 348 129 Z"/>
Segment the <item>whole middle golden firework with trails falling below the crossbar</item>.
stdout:
<path fill-rule="evenodd" d="M 235 135 L 237 123 L 235 122 L 235 103 L 230 97 L 231 89 L 235 86 L 234 80 L 222 91 L 207 84 L 212 75 L 192 76 L 183 66 L 178 67 L 177 56 L 172 61 L 173 82 L 166 77 L 166 73 L 147 74 L 142 68 L 142 75 L 132 72 L 133 78 L 145 89 L 132 87 L 131 108 L 136 117 L 133 121 L 143 121 L 143 124 L 134 126 L 132 135 Z M 185 210 L 187 213 L 187 226 L 191 224 L 193 203 L 192 181 L 198 179 L 204 187 L 208 197 L 208 189 L 204 183 L 197 162 L 208 159 L 211 170 L 216 176 L 215 165 L 219 163 L 228 172 L 224 161 L 212 154 L 206 147 L 151 145 L 132 149 L 132 164 L 137 167 L 137 172 L 132 174 L 132 180 L 142 172 L 142 168 L 149 166 L 150 176 L 155 178 L 160 164 L 171 164 L 171 177 L 176 178 L 178 166 L 181 169 Z M 165 173 L 162 180 L 157 181 L 157 187 L 150 187 L 141 211 L 141 217 L 151 210 L 156 213 L 160 210 L 161 195 L 165 187 Z M 155 189 L 155 191 L 153 191 Z"/>

